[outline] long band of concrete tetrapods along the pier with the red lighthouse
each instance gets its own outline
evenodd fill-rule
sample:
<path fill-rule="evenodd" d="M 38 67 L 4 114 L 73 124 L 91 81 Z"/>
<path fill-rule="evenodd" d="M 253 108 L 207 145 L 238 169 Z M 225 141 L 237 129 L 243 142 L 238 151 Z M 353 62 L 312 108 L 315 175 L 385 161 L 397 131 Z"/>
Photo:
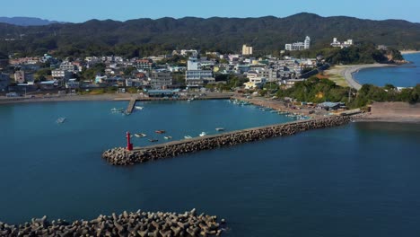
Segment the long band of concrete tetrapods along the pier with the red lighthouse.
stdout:
<path fill-rule="evenodd" d="M 254 127 L 216 136 L 197 137 L 190 140 L 182 140 L 162 145 L 151 145 L 143 148 L 136 148 L 130 152 L 125 148 L 119 147 L 105 151 L 102 154 L 102 158 L 113 165 L 132 165 L 135 163 L 170 158 L 179 154 L 188 154 L 223 146 L 249 143 L 270 137 L 291 136 L 311 129 L 337 127 L 345 125 L 349 121 L 350 117 L 348 116 L 331 116 L 273 126 Z"/>

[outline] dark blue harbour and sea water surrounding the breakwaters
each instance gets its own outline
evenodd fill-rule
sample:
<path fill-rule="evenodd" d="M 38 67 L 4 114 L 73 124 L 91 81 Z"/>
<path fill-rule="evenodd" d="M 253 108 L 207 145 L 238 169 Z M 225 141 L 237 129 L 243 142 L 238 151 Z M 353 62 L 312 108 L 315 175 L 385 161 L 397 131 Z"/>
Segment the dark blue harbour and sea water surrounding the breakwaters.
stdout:
<path fill-rule="evenodd" d="M 126 130 L 173 136 L 286 118 L 227 101 L 0 107 L 0 220 L 91 219 L 123 210 L 225 218 L 223 236 L 418 236 L 420 126 L 352 123 L 247 145 L 113 167 L 101 151 Z M 66 116 L 57 125 L 57 117 Z"/>

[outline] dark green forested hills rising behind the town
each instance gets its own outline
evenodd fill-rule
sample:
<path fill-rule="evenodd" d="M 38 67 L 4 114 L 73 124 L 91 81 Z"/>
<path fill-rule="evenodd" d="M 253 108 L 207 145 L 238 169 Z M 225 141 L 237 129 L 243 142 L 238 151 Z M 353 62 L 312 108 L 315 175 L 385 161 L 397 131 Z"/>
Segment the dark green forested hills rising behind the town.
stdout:
<path fill-rule="evenodd" d="M 113 53 L 141 57 L 177 48 L 239 52 L 242 44 L 249 44 L 256 52 L 272 52 L 283 49 L 285 43 L 302 41 L 306 36 L 311 37 L 311 48 L 326 48 L 333 38 L 338 38 L 418 49 L 420 23 L 321 17 L 313 13 L 284 18 L 91 20 L 43 26 L 0 23 L 0 51 L 31 55 L 54 50 L 75 56 Z"/>

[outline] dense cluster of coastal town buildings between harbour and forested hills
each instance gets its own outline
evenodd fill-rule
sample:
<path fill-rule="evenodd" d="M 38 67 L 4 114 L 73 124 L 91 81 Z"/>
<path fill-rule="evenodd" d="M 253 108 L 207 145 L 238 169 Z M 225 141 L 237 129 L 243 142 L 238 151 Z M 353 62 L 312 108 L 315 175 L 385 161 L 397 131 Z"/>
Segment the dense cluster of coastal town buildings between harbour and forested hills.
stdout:
<path fill-rule="evenodd" d="M 282 52 L 310 47 L 310 37 L 306 37 L 304 42 L 286 44 Z M 180 91 L 258 91 L 266 84 L 290 88 L 317 74 L 318 68 L 328 67 L 321 55 L 316 58 L 255 57 L 256 50 L 248 45 L 243 45 L 237 54 L 180 49 L 143 58 L 10 55 L 0 67 L 0 95 L 31 98 L 46 93 L 137 92 L 164 97 L 179 95 Z M 229 80 L 232 78 L 235 80 Z"/>

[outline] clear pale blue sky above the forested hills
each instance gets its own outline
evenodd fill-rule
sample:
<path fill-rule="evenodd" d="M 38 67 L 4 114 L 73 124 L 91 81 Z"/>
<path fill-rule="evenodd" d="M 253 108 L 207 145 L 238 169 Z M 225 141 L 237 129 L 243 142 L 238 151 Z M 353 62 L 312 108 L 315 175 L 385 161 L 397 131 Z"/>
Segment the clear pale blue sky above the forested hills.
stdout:
<path fill-rule="evenodd" d="M 307 12 L 321 16 L 346 15 L 372 20 L 420 22 L 419 9 L 419 0 L 7 0 L 1 4 L 0 16 L 85 22 L 91 19 L 127 21 L 165 16 L 284 17 Z"/>

